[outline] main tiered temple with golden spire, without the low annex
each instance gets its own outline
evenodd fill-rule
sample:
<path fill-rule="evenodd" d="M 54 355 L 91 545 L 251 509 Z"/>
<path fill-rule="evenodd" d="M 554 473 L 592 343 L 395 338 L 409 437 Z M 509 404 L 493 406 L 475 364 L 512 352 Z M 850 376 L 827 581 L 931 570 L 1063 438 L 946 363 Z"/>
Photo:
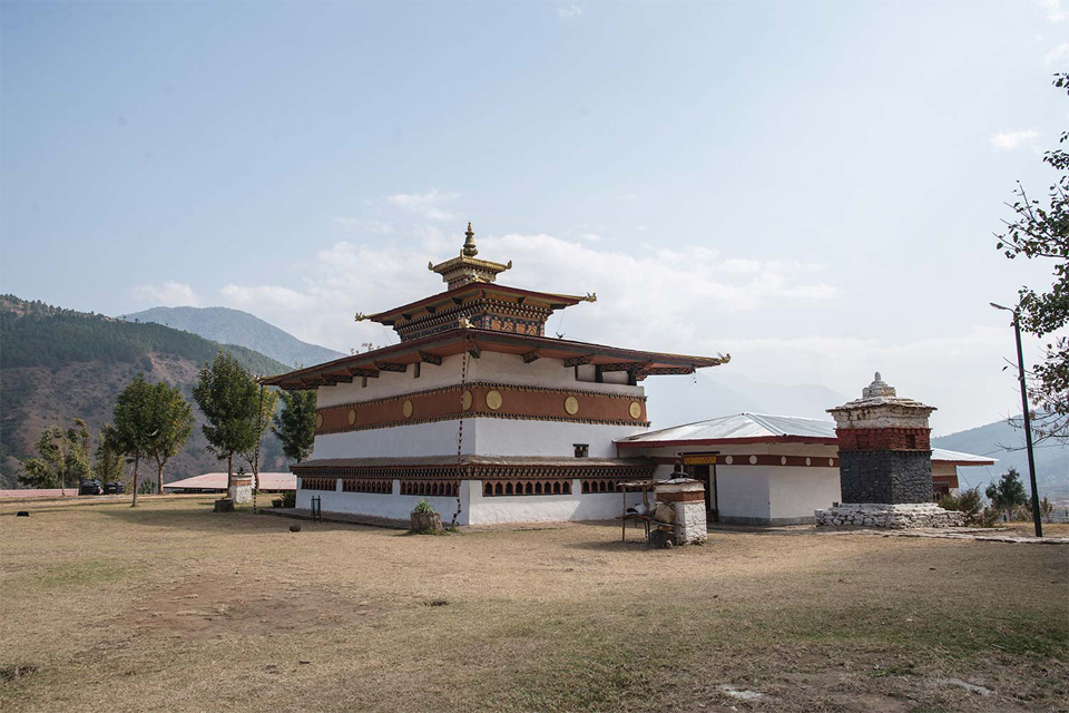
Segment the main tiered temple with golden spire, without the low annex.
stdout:
<path fill-rule="evenodd" d="M 649 429 L 641 382 L 730 359 L 547 338 L 551 314 L 596 295 L 498 284 L 512 264 L 479 258 L 470 224 L 465 236 L 428 265 L 443 292 L 356 315 L 400 343 L 265 380 L 316 390 L 313 456 L 292 467 L 298 508 L 318 497 L 323 512 L 404 520 L 426 498 L 458 525 L 612 518 L 617 485 L 658 467 L 618 455 Z"/>

